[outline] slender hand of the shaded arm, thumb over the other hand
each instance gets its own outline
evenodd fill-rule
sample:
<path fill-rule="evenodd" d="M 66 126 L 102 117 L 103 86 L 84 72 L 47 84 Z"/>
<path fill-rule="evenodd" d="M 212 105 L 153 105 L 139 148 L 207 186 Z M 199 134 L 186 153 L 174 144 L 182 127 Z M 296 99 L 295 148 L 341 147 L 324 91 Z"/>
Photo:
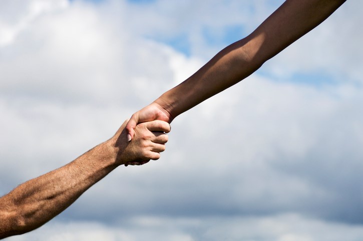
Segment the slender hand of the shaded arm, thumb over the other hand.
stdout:
<path fill-rule="evenodd" d="M 130 120 L 126 124 L 127 140 L 130 141 L 134 137 L 135 127 L 138 123 L 152 121 L 152 120 L 163 120 L 168 123 L 172 121 L 170 113 L 161 107 L 156 102 L 149 104 L 148 106 L 142 108 L 141 110 L 135 112 Z"/>

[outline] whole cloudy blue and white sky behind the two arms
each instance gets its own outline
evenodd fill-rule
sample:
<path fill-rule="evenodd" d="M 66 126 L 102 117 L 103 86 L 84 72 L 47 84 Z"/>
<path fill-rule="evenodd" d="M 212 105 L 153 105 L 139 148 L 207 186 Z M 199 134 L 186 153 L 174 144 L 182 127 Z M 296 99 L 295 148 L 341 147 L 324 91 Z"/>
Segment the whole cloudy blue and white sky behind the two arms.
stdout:
<path fill-rule="evenodd" d="M 110 138 L 282 0 L 0 1 L 0 195 Z M 363 2 L 22 240 L 363 239 Z"/>

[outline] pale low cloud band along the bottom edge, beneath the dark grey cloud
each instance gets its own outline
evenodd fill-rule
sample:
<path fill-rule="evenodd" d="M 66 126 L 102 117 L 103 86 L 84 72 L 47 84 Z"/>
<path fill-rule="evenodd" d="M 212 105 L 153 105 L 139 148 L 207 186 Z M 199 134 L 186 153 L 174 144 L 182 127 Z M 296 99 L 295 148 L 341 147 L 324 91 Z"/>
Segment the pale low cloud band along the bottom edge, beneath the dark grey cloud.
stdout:
<path fill-rule="evenodd" d="M 348 226 L 336 222 L 285 213 L 269 216 L 178 217 L 135 216 L 119 225 L 98 222 L 53 222 L 36 231 L 8 238 L 22 240 L 360 240 L 361 225 Z"/>

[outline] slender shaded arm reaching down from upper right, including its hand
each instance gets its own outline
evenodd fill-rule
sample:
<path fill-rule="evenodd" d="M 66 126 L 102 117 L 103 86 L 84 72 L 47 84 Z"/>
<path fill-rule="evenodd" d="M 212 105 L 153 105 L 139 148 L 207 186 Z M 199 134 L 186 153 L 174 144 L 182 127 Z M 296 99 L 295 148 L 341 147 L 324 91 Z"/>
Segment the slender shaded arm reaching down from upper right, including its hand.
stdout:
<path fill-rule="evenodd" d="M 128 139 L 139 122 L 169 123 L 184 111 L 256 71 L 265 61 L 316 27 L 345 0 L 286 0 L 250 35 L 232 43 L 196 73 L 134 113 L 126 125 Z"/>

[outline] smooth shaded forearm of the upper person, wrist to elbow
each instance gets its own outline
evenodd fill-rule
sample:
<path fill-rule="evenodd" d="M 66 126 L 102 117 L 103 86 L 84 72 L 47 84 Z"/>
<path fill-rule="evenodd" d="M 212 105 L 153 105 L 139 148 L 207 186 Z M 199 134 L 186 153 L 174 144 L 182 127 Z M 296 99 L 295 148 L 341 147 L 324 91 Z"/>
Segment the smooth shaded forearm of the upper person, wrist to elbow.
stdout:
<path fill-rule="evenodd" d="M 245 45 L 251 44 L 247 39 L 221 50 L 197 72 L 162 94 L 155 102 L 175 118 L 253 73 L 262 62 L 251 59 L 247 54 L 248 47 Z"/>

